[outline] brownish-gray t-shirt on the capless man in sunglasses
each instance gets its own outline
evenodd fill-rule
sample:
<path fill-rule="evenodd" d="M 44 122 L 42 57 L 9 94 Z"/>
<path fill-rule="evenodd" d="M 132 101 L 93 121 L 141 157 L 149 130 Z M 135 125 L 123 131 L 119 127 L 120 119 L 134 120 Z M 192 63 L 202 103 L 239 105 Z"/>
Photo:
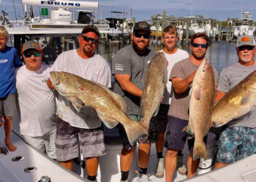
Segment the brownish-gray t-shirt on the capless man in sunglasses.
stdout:
<path fill-rule="evenodd" d="M 173 78 L 186 79 L 187 76 L 189 76 L 195 70 L 197 70 L 198 67 L 199 66 L 195 66 L 192 63 L 192 60 L 190 60 L 190 58 L 181 60 L 173 66 L 172 71 L 170 72 L 169 79 L 170 80 Z M 218 72 L 215 68 L 214 68 L 214 79 L 215 79 L 215 85 L 217 85 Z M 186 92 L 183 92 L 181 94 L 177 94 L 176 92 L 173 92 L 168 115 L 177 117 L 179 119 L 189 120 L 189 90 L 191 89 L 191 87 L 192 87 L 192 84 L 190 84 Z"/>

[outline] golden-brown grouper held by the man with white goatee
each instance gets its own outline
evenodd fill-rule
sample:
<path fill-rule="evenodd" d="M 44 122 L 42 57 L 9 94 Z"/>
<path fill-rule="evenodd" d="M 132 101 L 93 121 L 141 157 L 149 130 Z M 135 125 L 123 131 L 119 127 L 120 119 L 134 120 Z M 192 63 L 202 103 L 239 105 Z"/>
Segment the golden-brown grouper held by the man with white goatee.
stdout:
<path fill-rule="evenodd" d="M 246 76 L 236 87 L 227 92 L 214 106 L 211 121 L 214 127 L 220 127 L 255 109 L 256 71 Z"/>

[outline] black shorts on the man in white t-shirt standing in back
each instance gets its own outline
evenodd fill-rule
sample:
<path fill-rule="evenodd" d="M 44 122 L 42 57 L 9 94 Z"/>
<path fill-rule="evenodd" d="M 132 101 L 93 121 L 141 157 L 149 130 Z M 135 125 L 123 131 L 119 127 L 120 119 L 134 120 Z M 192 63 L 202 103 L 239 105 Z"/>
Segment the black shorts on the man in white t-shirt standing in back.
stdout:
<path fill-rule="evenodd" d="M 157 114 L 158 132 L 165 133 L 167 123 L 168 123 L 168 111 L 169 104 L 160 104 L 159 111 Z"/>

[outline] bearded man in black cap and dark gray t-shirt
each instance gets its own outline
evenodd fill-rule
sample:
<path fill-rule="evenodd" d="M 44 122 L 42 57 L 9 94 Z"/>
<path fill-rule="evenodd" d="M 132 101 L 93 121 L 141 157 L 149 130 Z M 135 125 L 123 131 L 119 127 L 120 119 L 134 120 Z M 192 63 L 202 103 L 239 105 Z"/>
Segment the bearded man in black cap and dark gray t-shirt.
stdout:
<path fill-rule="evenodd" d="M 144 82 L 148 64 L 154 57 L 155 52 L 148 49 L 150 26 L 146 22 L 135 23 L 132 33 L 132 45 L 124 47 L 116 53 L 112 62 L 112 74 L 116 77 L 114 92 L 122 95 L 127 103 L 127 114 L 131 119 L 140 122 L 142 110 L 140 98 L 142 97 Z M 148 130 L 146 141 L 139 140 L 138 181 L 148 181 L 147 167 L 150 155 L 151 141 L 157 137 L 157 122 L 153 119 Z M 132 147 L 127 140 L 124 128 L 119 126 L 120 134 L 124 140 L 121 151 L 121 181 L 128 181 L 129 169 L 132 165 L 135 147 Z"/>

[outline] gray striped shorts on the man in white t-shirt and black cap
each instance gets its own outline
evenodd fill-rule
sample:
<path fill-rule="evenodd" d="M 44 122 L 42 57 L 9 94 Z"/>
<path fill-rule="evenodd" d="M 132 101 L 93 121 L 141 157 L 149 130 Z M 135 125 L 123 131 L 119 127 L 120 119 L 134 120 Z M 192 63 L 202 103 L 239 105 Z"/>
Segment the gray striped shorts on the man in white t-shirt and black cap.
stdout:
<path fill-rule="evenodd" d="M 56 128 L 56 156 L 59 161 L 78 157 L 78 143 L 83 157 L 99 157 L 106 154 L 102 127 L 95 129 L 72 127 L 68 122 L 58 118 Z"/>

